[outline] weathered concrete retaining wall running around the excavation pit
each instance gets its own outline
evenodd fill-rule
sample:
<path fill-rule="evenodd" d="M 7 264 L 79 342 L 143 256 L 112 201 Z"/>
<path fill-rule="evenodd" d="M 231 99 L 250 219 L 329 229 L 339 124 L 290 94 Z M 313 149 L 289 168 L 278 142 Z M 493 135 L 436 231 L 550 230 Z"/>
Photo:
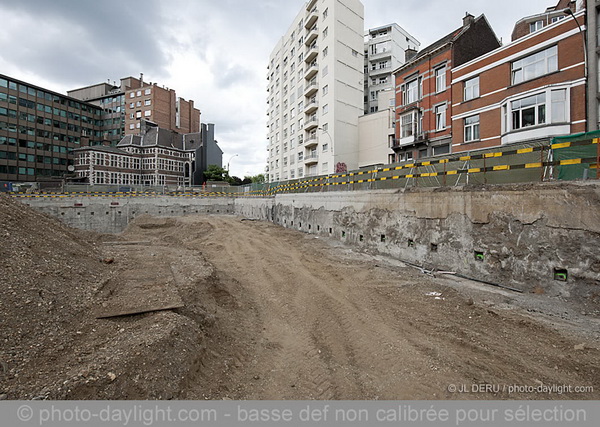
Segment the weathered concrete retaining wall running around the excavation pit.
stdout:
<path fill-rule="evenodd" d="M 524 184 L 278 195 L 68 198 L 26 203 L 115 233 L 142 214 L 237 214 L 339 239 L 428 269 L 600 304 L 600 184 Z"/>

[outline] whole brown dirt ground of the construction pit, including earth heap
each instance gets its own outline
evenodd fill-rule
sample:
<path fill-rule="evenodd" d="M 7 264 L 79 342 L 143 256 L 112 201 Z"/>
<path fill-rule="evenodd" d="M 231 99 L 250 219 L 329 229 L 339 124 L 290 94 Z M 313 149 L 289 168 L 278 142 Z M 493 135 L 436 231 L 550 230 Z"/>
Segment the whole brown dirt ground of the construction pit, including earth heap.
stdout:
<path fill-rule="evenodd" d="M 111 236 L 39 214 L 16 227 L 4 203 L 5 399 L 600 398 L 600 321 L 556 298 L 240 217 L 140 217 Z M 44 256 L 26 235 L 40 224 L 75 264 L 22 261 L 23 281 L 10 260 Z"/>

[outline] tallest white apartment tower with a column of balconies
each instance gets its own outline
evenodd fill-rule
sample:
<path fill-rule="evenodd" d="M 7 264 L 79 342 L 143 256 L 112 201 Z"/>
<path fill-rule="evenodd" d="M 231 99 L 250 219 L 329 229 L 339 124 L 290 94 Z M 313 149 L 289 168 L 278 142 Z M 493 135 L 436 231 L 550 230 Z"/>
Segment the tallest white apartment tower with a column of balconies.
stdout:
<path fill-rule="evenodd" d="M 364 7 L 309 0 L 268 65 L 270 182 L 358 167 L 364 96 Z"/>

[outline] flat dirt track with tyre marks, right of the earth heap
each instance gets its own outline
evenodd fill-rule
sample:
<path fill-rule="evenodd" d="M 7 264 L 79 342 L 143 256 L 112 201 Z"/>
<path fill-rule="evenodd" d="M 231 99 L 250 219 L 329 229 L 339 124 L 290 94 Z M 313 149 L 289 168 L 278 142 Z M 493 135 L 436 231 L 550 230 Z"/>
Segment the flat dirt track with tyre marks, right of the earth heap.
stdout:
<path fill-rule="evenodd" d="M 268 223 L 218 216 L 145 221 L 123 237 L 201 253 L 213 267 L 198 282 L 207 290 L 200 301 L 183 296 L 212 320 L 205 354 L 181 397 L 600 397 L 598 320 L 549 317 L 519 303 L 538 299 L 562 310 L 546 297 L 425 276 Z M 186 279 L 184 266 L 174 271 Z M 451 392 L 483 383 L 501 391 Z M 593 391 L 509 393 L 514 385 Z"/>

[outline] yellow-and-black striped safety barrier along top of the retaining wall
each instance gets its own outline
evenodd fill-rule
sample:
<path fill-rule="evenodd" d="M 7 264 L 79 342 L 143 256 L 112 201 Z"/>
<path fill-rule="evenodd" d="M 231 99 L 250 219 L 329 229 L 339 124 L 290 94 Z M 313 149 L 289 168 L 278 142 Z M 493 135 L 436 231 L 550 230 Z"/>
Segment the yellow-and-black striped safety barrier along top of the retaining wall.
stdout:
<path fill-rule="evenodd" d="M 600 158 L 599 138 L 593 134 L 554 138 L 552 142 L 536 141 L 514 145 L 506 150 L 494 147 L 476 153 L 460 153 L 404 162 L 397 165 L 358 170 L 348 173 L 315 176 L 283 183 L 251 184 L 228 187 L 227 191 L 187 190 L 160 191 L 66 191 L 9 193 L 15 197 L 273 197 L 277 194 L 379 190 L 407 187 L 446 187 L 478 184 L 508 184 L 519 182 L 551 181 L 555 179 L 586 179 L 587 170 L 598 169 Z M 598 134 L 600 136 L 600 134 Z M 568 140 L 572 139 L 572 140 Z M 594 150 L 585 148 L 595 147 Z M 584 148 L 584 150 L 579 150 Z M 571 150 L 571 151 L 569 151 Z M 591 155 L 590 153 L 592 153 Z M 557 153 L 562 153 L 556 155 Z M 578 156 L 578 153 L 589 154 Z M 577 169 L 568 174 L 560 168 L 585 166 L 582 176 Z"/>

